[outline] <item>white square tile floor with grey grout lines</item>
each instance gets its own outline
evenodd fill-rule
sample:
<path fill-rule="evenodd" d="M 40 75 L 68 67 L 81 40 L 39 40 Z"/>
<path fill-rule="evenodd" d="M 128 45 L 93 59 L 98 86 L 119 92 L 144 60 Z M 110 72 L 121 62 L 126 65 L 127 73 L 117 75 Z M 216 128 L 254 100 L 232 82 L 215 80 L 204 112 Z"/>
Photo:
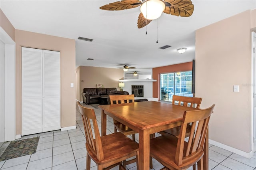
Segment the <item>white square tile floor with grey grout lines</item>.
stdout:
<path fill-rule="evenodd" d="M 98 105 L 87 105 L 95 109 L 99 128 L 101 127 L 101 112 Z M 114 132 L 113 119 L 107 118 L 107 134 Z M 76 129 L 66 131 L 52 131 L 20 139 L 40 136 L 35 154 L 13 158 L 0 162 L 1 170 L 85 170 L 86 148 L 84 127 L 79 111 L 76 108 Z M 159 134 L 156 134 L 158 136 Z M 129 136 L 130 138 L 132 136 Z M 138 134 L 136 134 L 138 141 Z M 9 142 L 1 143 L 0 152 L 8 146 Z M 153 159 L 154 170 L 163 166 Z M 96 170 L 96 164 L 91 161 L 91 170 Z M 113 168 L 117 170 L 118 167 Z M 127 170 L 136 170 L 136 163 L 126 166 Z M 192 168 L 189 168 L 189 170 Z M 256 170 L 256 153 L 253 158 L 247 159 L 217 146 L 209 144 L 209 170 Z"/>

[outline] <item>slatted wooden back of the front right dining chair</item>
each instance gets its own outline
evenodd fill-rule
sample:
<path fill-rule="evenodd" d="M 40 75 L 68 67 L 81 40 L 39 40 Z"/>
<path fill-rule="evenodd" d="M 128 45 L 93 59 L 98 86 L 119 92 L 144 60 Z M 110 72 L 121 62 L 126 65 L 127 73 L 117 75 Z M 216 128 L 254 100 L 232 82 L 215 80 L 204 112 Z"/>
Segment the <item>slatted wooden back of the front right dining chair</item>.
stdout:
<path fill-rule="evenodd" d="M 208 123 L 214 107 L 215 105 L 212 105 L 207 109 L 184 112 L 175 154 L 175 163 L 178 166 L 186 162 L 198 160 L 203 156 Z M 197 122 L 198 126 L 196 128 Z M 185 142 L 186 128 L 190 123 L 192 123 L 190 137 L 188 142 Z M 194 132 L 195 136 L 193 138 Z"/>

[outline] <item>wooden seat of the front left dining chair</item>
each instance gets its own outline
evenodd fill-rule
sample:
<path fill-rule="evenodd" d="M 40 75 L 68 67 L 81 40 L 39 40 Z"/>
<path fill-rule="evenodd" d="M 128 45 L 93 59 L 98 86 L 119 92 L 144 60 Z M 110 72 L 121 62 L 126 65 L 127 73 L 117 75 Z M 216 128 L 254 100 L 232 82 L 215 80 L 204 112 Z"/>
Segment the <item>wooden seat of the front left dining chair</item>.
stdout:
<path fill-rule="evenodd" d="M 96 164 L 106 164 L 111 161 L 118 163 L 124 159 L 136 156 L 136 151 L 139 150 L 139 144 L 132 141 L 121 132 L 102 136 L 101 142 L 104 153 L 104 160 L 102 161 L 98 161 L 96 155 L 93 154 L 86 143 L 86 150 Z"/>

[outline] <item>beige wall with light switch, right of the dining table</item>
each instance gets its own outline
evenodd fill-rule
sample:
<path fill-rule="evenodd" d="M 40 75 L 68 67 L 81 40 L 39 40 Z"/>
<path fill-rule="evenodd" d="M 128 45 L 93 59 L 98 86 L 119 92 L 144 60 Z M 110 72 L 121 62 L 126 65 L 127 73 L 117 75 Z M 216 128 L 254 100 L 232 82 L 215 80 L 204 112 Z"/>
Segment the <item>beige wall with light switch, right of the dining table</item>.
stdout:
<path fill-rule="evenodd" d="M 203 98 L 201 108 L 216 104 L 209 138 L 246 153 L 252 150 L 250 22 L 248 10 L 196 31 L 196 97 Z"/>

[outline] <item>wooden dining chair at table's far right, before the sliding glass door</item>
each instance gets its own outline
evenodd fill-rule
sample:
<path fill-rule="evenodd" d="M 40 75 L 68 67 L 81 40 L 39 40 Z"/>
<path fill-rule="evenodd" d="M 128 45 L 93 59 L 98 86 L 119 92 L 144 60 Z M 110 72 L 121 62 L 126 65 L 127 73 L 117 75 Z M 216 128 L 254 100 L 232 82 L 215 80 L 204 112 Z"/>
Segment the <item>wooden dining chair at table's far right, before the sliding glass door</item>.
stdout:
<path fill-rule="evenodd" d="M 200 104 L 202 102 L 202 98 L 201 97 L 185 97 L 185 96 L 177 96 L 177 95 L 173 95 L 172 97 L 172 104 L 173 105 L 181 105 L 184 107 L 194 107 L 194 108 L 198 108 L 200 107 Z M 187 131 L 186 131 L 186 137 L 190 136 L 190 129 L 191 126 L 188 125 L 187 126 Z M 167 130 L 163 130 L 158 132 L 160 134 L 172 134 L 176 137 L 179 136 L 180 134 L 180 126 L 179 127 L 174 127 L 174 128 L 170 128 Z"/>

